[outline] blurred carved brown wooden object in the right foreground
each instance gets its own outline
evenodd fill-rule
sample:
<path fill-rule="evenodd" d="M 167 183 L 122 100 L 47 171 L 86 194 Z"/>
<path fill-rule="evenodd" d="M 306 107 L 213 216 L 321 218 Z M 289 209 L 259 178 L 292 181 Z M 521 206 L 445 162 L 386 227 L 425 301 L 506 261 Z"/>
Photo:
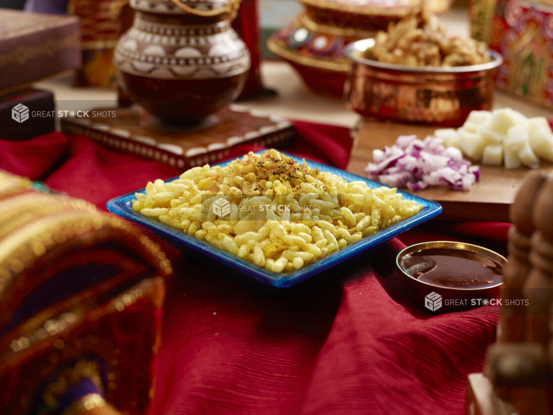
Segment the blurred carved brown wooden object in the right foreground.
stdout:
<path fill-rule="evenodd" d="M 529 174 L 510 219 L 498 339 L 486 377 L 469 376 L 471 415 L 553 413 L 553 178 Z"/>

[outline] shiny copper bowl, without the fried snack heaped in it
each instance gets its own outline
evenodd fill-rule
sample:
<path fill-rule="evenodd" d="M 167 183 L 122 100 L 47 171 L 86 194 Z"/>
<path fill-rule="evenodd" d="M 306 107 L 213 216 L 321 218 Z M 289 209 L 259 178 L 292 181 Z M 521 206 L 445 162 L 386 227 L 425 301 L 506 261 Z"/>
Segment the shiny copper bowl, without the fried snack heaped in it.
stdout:
<path fill-rule="evenodd" d="M 503 58 L 452 68 L 411 67 L 363 58 L 374 39 L 350 43 L 352 67 L 344 86 L 350 110 L 378 121 L 461 126 L 472 110 L 491 110 L 494 70 Z"/>

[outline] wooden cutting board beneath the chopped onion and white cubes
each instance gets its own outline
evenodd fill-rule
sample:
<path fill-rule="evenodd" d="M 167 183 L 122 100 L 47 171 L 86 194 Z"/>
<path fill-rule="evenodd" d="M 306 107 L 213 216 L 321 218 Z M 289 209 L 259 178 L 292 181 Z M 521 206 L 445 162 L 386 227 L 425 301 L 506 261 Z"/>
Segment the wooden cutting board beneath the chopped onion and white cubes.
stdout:
<path fill-rule="evenodd" d="M 392 146 L 400 135 L 416 134 L 418 138 L 424 139 L 434 133 L 435 129 L 436 127 L 364 121 L 359 125 L 347 169 L 366 177 L 364 169 L 372 162 L 374 149 Z M 542 166 L 544 167 L 540 170 L 553 172 L 551 164 L 542 163 Z M 444 207 L 439 219 L 509 221 L 509 205 L 530 169 L 505 169 L 486 165 L 480 167 L 480 181 L 469 191 L 434 187 L 415 194 L 435 200 Z"/>

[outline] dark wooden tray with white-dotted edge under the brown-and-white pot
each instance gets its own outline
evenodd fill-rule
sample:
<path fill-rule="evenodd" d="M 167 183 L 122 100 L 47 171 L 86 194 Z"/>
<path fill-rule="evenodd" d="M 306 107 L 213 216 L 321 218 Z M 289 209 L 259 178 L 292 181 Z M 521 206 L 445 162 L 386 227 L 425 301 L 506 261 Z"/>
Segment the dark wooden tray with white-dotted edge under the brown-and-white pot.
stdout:
<path fill-rule="evenodd" d="M 62 131 L 182 170 L 221 160 L 241 144 L 278 148 L 296 138 L 290 121 L 241 105 L 226 107 L 194 127 L 164 125 L 137 107 L 100 109 L 116 110 L 117 117 L 62 118 Z"/>

